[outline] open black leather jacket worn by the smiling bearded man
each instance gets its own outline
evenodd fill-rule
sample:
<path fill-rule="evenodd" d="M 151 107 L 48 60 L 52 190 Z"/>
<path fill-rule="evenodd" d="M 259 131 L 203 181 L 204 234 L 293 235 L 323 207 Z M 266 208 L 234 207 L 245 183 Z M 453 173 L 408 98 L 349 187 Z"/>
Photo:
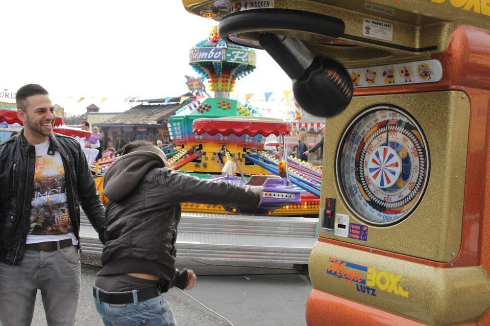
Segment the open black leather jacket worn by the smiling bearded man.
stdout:
<path fill-rule="evenodd" d="M 79 239 L 80 205 L 99 238 L 105 231 L 104 207 L 80 144 L 72 137 L 49 137 L 48 155 L 61 154 L 65 168 L 68 208 Z M 17 136 L 0 142 L 0 261 L 19 265 L 24 255 L 33 195 L 35 147 Z M 78 245 L 79 246 L 79 245 Z"/>

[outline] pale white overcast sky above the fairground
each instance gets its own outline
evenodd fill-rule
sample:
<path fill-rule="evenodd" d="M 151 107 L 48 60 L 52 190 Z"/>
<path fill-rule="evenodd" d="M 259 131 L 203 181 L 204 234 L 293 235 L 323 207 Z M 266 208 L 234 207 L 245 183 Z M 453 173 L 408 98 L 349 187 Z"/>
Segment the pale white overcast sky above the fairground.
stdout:
<path fill-rule="evenodd" d="M 94 97 L 103 111 L 124 111 L 127 96 L 187 92 L 189 49 L 215 21 L 185 11 L 180 0 L 2 0 L 0 88 L 43 85 L 66 111 L 83 113 Z M 291 90 L 291 80 L 262 50 L 239 93 Z M 73 96 L 73 99 L 66 99 Z M 81 103 L 74 98 L 87 97 Z M 262 95 L 263 96 L 263 95 Z"/>

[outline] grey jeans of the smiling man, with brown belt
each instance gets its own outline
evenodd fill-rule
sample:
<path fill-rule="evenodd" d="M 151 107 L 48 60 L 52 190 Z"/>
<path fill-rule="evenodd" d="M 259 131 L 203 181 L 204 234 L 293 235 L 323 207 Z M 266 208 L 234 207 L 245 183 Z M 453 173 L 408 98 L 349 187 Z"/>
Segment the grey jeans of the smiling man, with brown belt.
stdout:
<path fill-rule="evenodd" d="M 0 262 L 1 325 L 30 325 L 38 289 L 48 325 L 73 325 L 80 292 L 80 255 L 75 246 L 26 250 L 19 266 Z"/>

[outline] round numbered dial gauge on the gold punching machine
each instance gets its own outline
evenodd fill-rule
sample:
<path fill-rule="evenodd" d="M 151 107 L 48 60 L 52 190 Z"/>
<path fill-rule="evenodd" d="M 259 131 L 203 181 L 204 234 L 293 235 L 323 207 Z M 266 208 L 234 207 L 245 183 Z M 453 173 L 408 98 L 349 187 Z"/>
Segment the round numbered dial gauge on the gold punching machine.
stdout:
<path fill-rule="evenodd" d="M 347 206 L 368 223 L 390 225 L 417 206 L 429 175 L 429 151 L 417 122 L 391 106 L 368 109 L 348 126 L 337 152 Z"/>

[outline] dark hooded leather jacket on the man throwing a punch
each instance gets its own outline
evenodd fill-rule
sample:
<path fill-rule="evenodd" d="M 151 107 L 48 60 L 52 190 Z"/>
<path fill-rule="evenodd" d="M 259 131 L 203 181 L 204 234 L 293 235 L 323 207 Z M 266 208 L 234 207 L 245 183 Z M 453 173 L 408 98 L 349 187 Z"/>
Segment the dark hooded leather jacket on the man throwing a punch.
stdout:
<path fill-rule="evenodd" d="M 214 183 L 166 168 L 148 151 L 125 154 L 104 175 L 106 244 L 98 275 L 145 273 L 172 284 L 180 203 L 257 207 L 248 186 Z"/>

